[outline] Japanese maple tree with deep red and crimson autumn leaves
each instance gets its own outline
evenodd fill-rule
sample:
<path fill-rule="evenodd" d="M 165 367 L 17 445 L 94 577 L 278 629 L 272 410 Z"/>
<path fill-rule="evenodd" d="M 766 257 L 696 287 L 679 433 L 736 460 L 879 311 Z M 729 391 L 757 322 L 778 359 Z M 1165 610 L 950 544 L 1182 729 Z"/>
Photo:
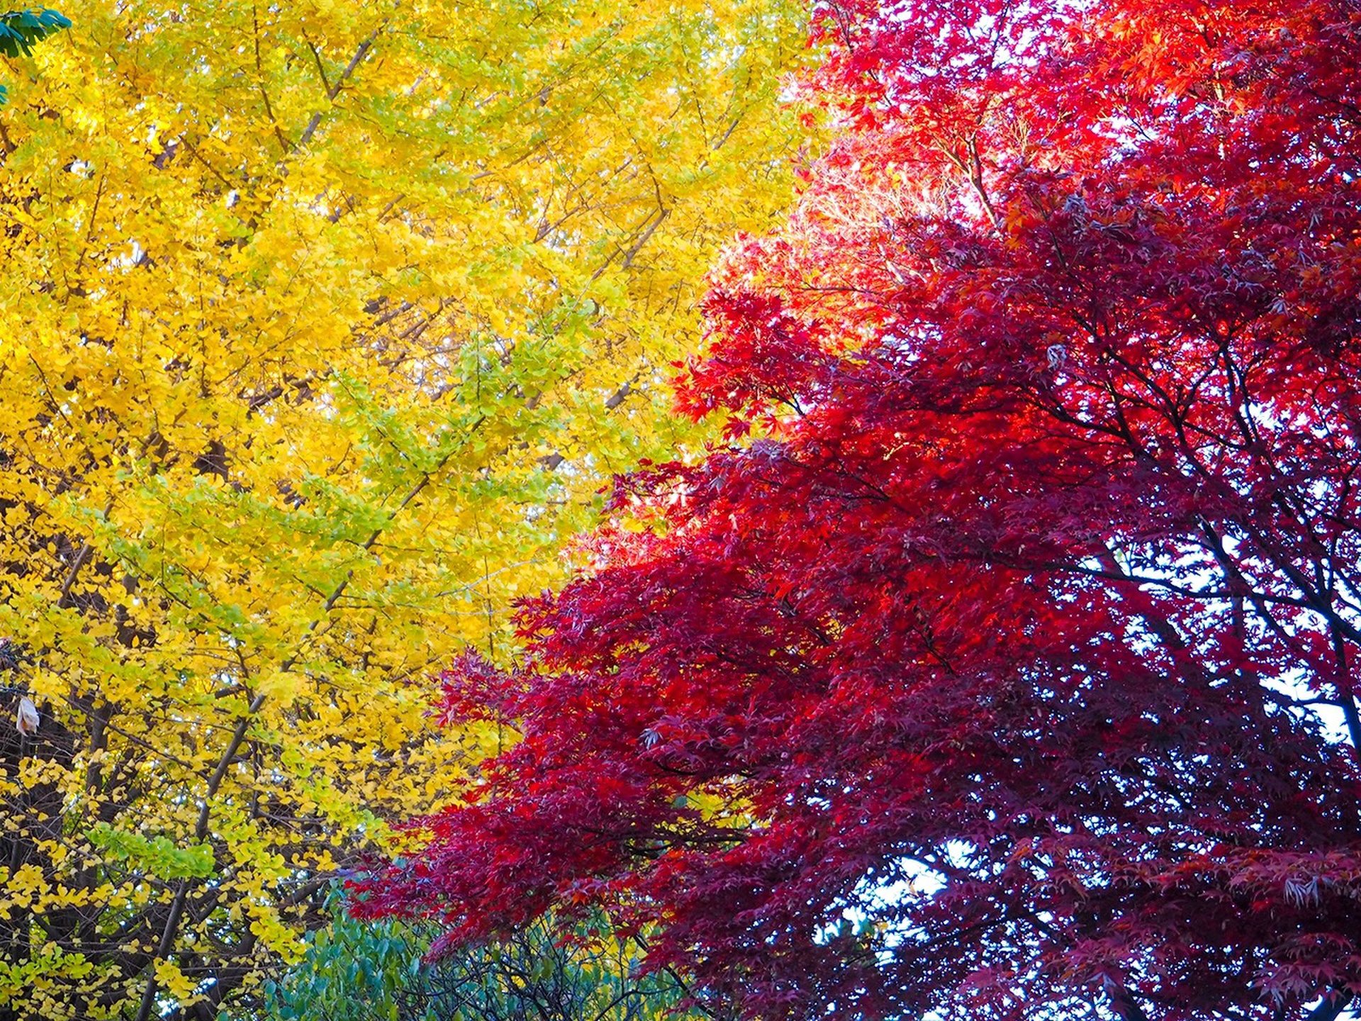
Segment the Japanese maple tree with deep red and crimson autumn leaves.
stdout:
<path fill-rule="evenodd" d="M 821 10 L 840 139 L 682 383 L 731 445 L 446 675 L 523 739 L 357 909 L 600 905 L 750 1017 L 1337 1017 L 1361 4 Z"/>

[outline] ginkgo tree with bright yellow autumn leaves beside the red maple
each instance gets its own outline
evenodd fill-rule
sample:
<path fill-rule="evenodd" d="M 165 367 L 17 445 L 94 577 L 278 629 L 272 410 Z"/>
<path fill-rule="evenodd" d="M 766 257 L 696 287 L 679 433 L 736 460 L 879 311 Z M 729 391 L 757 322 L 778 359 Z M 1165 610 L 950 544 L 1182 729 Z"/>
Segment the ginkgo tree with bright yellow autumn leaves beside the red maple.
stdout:
<path fill-rule="evenodd" d="M 788 0 L 87 0 L 0 120 L 0 1018 L 212 1017 L 478 742 L 789 191 Z M 37 712 L 37 720 L 34 719 Z"/>

